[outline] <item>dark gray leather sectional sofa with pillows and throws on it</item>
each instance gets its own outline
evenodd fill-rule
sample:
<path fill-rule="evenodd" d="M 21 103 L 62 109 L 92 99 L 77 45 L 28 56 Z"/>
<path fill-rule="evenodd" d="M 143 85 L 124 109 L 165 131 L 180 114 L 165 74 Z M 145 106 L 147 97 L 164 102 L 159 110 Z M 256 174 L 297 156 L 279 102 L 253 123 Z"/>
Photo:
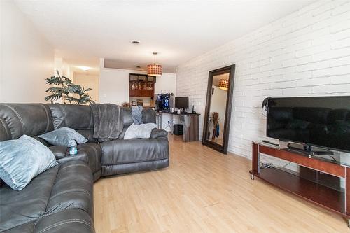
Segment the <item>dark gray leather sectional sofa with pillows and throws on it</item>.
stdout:
<path fill-rule="evenodd" d="M 69 104 L 0 104 L 0 141 L 33 136 L 48 146 L 59 165 L 36 176 L 26 188 L 0 187 L 0 232 L 94 232 L 93 183 L 101 176 L 150 171 L 169 166 L 167 132 L 153 129 L 151 139 L 123 140 L 132 125 L 130 108 L 122 108 L 120 139 L 98 143 L 93 138 L 90 106 Z M 155 112 L 144 109 L 144 122 Z M 88 139 L 78 155 L 66 155 L 38 135 L 70 127 Z M 1 155 L 1 154 L 0 154 Z"/>

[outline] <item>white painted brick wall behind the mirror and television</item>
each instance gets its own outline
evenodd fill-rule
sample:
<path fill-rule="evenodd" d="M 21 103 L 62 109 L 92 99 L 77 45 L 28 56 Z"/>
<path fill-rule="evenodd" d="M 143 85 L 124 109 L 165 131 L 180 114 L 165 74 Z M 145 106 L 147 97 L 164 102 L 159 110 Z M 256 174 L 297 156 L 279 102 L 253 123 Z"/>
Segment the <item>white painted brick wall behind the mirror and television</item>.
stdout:
<path fill-rule="evenodd" d="M 232 28 L 234 30 L 234 28 Z M 205 110 L 208 72 L 236 64 L 229 151 L 265 136 L 265 97 L 350 94 L 350 1 L 317 1 L 177 69 L 176 94 Z"/>

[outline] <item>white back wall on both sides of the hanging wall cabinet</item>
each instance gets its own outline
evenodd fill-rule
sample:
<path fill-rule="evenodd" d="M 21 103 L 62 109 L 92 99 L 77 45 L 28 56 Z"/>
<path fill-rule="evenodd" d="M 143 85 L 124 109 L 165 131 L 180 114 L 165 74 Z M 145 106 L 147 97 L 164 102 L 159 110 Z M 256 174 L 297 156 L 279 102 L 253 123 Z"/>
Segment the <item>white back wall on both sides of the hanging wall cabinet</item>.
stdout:
<path fill-rule="evenodd" d="M 130 73 L 146 73 L 129 69 L 104 68 L 104 59 L 100 59 L 99 101 L 100 103 L 123 104 L 129 102 Z M 155 93 L 176 92 L 176 74 L 163 73 L 157 77 Z"/>

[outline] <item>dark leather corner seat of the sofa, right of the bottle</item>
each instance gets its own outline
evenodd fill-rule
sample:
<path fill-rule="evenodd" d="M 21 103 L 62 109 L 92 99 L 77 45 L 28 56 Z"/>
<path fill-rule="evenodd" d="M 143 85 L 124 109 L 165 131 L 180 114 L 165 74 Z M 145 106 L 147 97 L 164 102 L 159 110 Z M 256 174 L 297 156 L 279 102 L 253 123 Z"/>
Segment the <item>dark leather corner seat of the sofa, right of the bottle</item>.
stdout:
<path fill-rule="evenodd" d="M 85 153 L 89 158 L 92 173 L 101 170 L 101 147 L 98 143 L 83 143 L 78 145 L 78 153 Z"/>

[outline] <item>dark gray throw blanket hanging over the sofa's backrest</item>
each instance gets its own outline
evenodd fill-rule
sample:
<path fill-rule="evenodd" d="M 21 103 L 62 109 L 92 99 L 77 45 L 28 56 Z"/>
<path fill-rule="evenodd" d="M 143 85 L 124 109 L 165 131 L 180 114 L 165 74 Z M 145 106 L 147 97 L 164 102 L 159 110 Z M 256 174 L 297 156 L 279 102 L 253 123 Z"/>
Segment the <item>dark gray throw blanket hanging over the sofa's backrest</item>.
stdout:
<path fill-rule="evenodd" d="M 116 104 L 91 104 L 94 138 L 100 142 L 118 139 L 123 132 L 123 117 Z"/>

